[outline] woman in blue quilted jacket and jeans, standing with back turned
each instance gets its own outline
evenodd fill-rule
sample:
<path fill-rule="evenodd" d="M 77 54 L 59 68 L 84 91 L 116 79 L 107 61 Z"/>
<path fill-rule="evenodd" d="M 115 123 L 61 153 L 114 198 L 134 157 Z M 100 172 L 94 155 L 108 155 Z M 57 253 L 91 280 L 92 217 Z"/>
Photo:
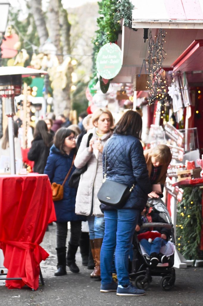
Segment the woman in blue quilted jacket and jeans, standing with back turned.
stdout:
<path fill-rule="evenodd" d="M 101 204 L 105 218 L 105 234 L 101 248 L 101 292 L 117 291 L 117 295 L 143 295 L 129 280 L 128 257 L 138 216 L 151 192 L 148 170 L 140 142 L 142 118 L 127 111 L 119 120 L 113 136 L 103 150 L 103 169 L 106 151 L 106 177 L 131 187 L 130 197 L 122 208 Z M 115 190 L 116 192 L 116 190 Z M 112 260 L 115 250 L 115 267 L 118 287 L 112 281 Z"/>

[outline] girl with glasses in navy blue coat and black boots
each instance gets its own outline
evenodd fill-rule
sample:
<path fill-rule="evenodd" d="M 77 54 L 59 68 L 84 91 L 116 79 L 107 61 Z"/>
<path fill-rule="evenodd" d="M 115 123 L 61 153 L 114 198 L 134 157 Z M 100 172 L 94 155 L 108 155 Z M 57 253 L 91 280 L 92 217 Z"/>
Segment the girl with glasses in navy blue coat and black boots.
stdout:
<path fill-rule="evenodd" d="M 47 174 L 51 183 L 63 183 L 66 174 L 71 168 L 73 158 L 76 155 L 75 133 L 67 128 L 59 129 L 54 138 L 54 144 L 50 149 L 50 155 L 47 159 L 44 174 Z M 69 178 L 75 166 L 64 184 L 63 199 L 54 202 L 56 212 L 56 252 L 57 252 L 57 271 L 55 276 L 66 274 L 66 265 L 71 272 L 79 272 L 75 263 L 75 254 L 79 245 L 81 233 L 81 221 L 85 217 L 75 214 L 75 198 L 77 190 L 68 185 Z M 70 240 L 68 243 L 68 252 L 66 257 L 66 237 L 67 223 L 70 221 Z"/>

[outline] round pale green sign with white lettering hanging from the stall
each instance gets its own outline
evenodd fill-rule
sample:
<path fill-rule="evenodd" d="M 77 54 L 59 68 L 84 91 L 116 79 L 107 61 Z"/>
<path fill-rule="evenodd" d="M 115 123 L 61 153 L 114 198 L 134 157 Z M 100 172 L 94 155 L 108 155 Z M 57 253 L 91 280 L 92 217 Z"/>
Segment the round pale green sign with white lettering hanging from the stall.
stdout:
<path fill-rule="evenodd" d="M 115 43 L 106 43 L 98 52 L 97 71 L 104 79 L 115 77 L 122 66 L 121 50 Z"/>

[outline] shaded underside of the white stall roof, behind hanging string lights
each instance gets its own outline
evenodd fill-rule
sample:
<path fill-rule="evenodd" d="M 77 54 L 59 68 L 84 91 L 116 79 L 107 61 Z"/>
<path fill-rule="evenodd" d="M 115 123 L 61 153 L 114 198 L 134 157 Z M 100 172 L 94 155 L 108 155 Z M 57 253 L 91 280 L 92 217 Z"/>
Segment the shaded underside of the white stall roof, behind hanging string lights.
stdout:
<path fill-rule="evenodd" d="M 202 39 L 203 29 L 165 29 L 167 32 L 164 43 L 166 56 L 163 61 L 164 68 L 170 68 L 177 58 L 194 41 Z M 158 29 L 151 29 L 152 37 L 158 33 Z M 118 45 L 122 50 L 123 65 L 119 74 L 113 79 L 115 83 L 132 83 L 135 73 L 147 73 L 143 60 L 148 58 L 148 41 L 144 43 L 143 28 L 137 31 L 122 27 L 122 35 L 119 35 Z M 146 67 L 147 68 L 147 67 Z M 173 69 L 171 69 L 173 70 Z"/>

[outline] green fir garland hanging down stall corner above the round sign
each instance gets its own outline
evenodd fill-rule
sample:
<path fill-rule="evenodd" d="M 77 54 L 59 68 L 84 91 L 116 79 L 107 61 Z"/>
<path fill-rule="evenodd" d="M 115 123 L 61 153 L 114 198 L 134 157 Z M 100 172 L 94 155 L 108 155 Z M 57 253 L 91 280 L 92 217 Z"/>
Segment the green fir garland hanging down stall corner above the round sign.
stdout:
<path fill-rule="evenodd" d="M 102 46 L 106 43 L 115 43 L 121 33 L 120 19 L 124 25 L 131 28 L 132 10 L 134 8 L 130 0 L 102 0 L 98 2 L 100 17 L 97 18 L 98 30 L 93 40 L 92 72 L 97 78 L 96 58 Z"/>

